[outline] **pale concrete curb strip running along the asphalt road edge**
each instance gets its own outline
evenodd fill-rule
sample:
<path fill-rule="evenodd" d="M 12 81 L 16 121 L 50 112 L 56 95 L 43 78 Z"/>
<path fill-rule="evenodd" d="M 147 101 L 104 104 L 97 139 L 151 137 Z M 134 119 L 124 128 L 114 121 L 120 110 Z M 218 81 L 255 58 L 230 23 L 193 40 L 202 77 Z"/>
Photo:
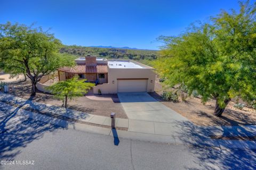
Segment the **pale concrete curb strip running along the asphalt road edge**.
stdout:
<path fill-rule="evenodd" d="M 10 111 L 13 111 L 15 109 L 17 108 L 10 105 L 5 106 L 5 109 L 1 108 L 1 110 L 10 110 Z M 35 119 L 44 123 L 57 125 L 63 128 L 74 129 L 76 131 L 113 136 L 113 133 L 111 133 L 110 128 L 68 122 L 66 120 L 61 120 L 61 119 L 52 118 L 49 116 L 44 116 L 41 114 L 36 114 L 34 112 L 23 110 L 23 109 L 17 110 L 17 116 Z M 199 138 L 199 137 L 167 136 L 167 135 L 156 135 L 156 134 L 121 131 L 121 130 L 117 130 L 117 135 L 118 137 L 122 137 L 124 139 L 167 143 L 167 144 L 193 145 L 197 147 L 218 147 L 221 149 L 227 149 L 227 148 L 228 149 L 256 149 L 255 141 L 215 140 L 215 139 L 205 139 L 205 138 Z"/>

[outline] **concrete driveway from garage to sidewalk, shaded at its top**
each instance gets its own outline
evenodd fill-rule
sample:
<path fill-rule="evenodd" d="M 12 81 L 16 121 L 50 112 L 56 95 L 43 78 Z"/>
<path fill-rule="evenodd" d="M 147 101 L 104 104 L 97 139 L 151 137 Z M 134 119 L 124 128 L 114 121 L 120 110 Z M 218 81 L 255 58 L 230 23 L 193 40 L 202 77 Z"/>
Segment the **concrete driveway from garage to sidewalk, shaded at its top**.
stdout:
<path fill-rule="evenodd" d="M 129 119 L 159 123 L 188 121 L 148 93 L 118 93 L 118 98 Z"/>

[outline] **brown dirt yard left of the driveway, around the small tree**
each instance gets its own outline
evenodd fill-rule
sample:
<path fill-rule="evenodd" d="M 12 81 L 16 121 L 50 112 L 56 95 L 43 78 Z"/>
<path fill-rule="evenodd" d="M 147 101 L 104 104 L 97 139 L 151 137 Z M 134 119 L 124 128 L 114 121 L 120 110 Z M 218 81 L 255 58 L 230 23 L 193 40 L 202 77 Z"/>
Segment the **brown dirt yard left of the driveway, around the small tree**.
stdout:
<path fill-rule="evenodd" d="M 30 99 L 34 102 L 41 102 L 45 104 L 51 104 L 54 106 L 62 106 L 62 101 L 58 99 L 54 99 L 53 95 L 42 93 L 37 91 L 36 96 L 31 99 L 30 98 L 30 91 L 31 85 L 29 80 L 27 82 L 19 82 L 19 83 L 12 83 L 10 86 L 14 85 L 14 92 L 10 92 L 9 94 L 13 94 L 23 99 Z M 112 97 L 111 95 L 110 97 Z M 117 95 L 113 96 L 113 98 L 118 98 Z M 109 117 L 111 112 L 116 113 L 117 118 L 126 118 L 125 111 L 119 101 L 99 101 L 99 100 L 90 100 L 86 98 L 86 96 L 79 97 L 75 100 L 68 101 L 68 108 L 87 112 L 93 115 L 100 115 L 100 116 L 107 116 Z"/>

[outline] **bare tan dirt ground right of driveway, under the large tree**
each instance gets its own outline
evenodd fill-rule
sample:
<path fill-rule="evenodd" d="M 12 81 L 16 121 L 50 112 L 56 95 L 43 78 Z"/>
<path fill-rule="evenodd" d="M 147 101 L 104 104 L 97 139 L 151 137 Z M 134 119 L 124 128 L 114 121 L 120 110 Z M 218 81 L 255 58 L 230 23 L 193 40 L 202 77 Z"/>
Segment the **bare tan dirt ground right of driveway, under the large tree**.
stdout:
<path fill-rule="evenodd" d="M 177 111 L 182 116 L 191 120 L 191 122 L 200 126 L 237 126 L 237 125 L 254 125 L 256 124 L 256 110 L 244 107 L 243 110 L 234 108 L 234 102 L 229 102 L 227 108 L 221 117 L 213 115 L 215 101 L 211 100 L 202 104 L 201 99 L 189 98 L 187 102 L 166 102 L 162 101 L 162 86 L 156 83 L 156 92 L 151 93 L 158 101 L 165 106 Z"/>

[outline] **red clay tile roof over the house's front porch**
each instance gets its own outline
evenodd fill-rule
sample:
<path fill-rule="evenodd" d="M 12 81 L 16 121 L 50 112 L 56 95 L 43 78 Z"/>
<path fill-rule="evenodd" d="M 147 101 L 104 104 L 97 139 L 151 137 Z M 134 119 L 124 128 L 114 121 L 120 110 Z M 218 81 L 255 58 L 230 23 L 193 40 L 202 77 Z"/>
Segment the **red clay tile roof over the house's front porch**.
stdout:
<path fill-rule="evenodd" d="M 62 67 L 59 68 L 60 71 L 72 72 L 72 73 L 107 73 L 108 66 L 107 64 L 97 64 L 97 65 L 89 65 L 86 64 L 77 64 L 73 68 Z"/>

